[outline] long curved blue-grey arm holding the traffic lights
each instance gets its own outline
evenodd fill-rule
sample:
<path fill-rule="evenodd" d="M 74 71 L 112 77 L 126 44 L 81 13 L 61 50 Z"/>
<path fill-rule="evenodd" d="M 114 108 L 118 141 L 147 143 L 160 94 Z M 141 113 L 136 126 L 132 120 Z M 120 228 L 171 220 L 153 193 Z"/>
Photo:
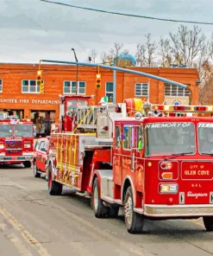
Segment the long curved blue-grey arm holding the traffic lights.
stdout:
<path fill-rule="evenodd" d="M 78 66 L 87 66 L 87 67 L 102 67 L 102 68 L 106 68 L 106 69 L 111 69 L 111 70 L 116 70 L 116 71 L 121 71 L 121 72 L 125 72 L 125 73 L 129 73 L 129 74 L 138 74 L 141 76 L 145 76 L 147 78 L 151 78 L 153 80 L 160 80 L 163 81 L 165 83 L 169 83 L 172 84 L 173 86 L 178 86 L 184 89 L 188 89 L 191 92 L 191 88 L 185 84 L 176 82 L 174 80 L 169 80 L 154 74 L 147 74 L 141 71 L 136 71 L 136 70 L 132 70 L 132 69 L 128 69 L 128 68 L 123 68 L 123 67 L 111 67 L 111 66 L 107 66 L 107 65 L 103 65 L 103 64 L 93 64 L 93 63 L 86 63 L 86 62 L 72 62 L 72 61 L 53 61 L 53 60 L 41 60 L 41 62 L 47 62 L 47 63 L 57 63 L 57 64 L 67 64 L 67 65 L 78 65 Z M 116 88 L 115 88 L 116 90 Z M 192 93 L 192 92 L 191 92 Z M 192 95 L 191 95 L 192 96 Z M 115 97 L 116 98 L 116 97 Z M 115 99 L 116 102 L 116 99 Z M 190 97 L 190 105 L 191 105 L 191 97 Z"/>

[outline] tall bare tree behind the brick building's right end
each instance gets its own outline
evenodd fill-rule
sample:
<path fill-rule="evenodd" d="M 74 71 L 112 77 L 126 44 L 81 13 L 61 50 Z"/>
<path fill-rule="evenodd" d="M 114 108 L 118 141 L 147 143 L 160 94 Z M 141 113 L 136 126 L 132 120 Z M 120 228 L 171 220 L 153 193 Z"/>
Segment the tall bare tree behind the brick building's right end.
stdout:
<path fill-rule="evenodd" d="M 207 41 L 197 26 L 190 30 L 181 25 L 177 33 L 169 33 L 169 39 L 160 41 L 161 66 L 177 64 L 197 68 L 201 80 L 199 101 L 202 104 L 213 99 L 212 55 L 213 40 Z"/>

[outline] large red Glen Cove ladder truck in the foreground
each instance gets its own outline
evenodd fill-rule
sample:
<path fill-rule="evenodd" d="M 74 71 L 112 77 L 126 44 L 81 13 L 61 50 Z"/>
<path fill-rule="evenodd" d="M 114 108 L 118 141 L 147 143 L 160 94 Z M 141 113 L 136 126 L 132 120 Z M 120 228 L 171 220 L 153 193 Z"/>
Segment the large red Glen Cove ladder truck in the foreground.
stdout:
<path fill-rule="evenodd" d="M 87 103 L 80 96 L 61 101 L 61 129 L 50 138 L 49 194 L 66 185 L 90 195 L 97 218 L 116 217 L 123 207 L 131 234 L 146 219 L 199 217 L 212 231 L 213 106 Z"/>

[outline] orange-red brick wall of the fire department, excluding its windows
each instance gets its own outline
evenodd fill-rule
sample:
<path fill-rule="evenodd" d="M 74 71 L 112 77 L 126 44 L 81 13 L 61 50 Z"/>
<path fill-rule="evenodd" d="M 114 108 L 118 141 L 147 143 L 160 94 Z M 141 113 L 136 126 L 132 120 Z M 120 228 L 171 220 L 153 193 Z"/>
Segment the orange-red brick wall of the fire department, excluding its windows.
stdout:
<path fill-rule="evenodd" d="M 59 118 L 58 104 L 41 104 L 41 100 L 59 99 L 63 94 L 64 80 L 76 80 L 76 67 L 60 65 L 41 65 L 42 80 L 45 81 L 45 93 L 22 93 L 22 80 L 35 80 L 38 70 L 37 64 L 0 63 L 0 79 L 3 79 L 3 93 L 0 93 L 0 109 L 24 109 L 25 117 L 29 118 L 30 110 L 53 110 Z M 198 104 L 198 74 L 195 69 L 189 68 L 147 68 L 133 67 L 137 71 L 154 74 L 166 79 L 175 80 L 191 85 L 193 91 L 192 104 Z M 96 104 L 105 95 L 105 83 L 113 82 L 113 71 L 101 68 L 102 86 L 96 89 L 97 67 L 78 67 L 78 81 L 86 82 L 86 94 L 97 94 L 93 99 Z M 116 101 L 135 97 L 135 83 L 149 83 L 149 101 L 162 104 L 164 101 L 164 82 L 149 79 L 135 74 L 116 72 Z M 10 102 L 3 103 L 5 99 Z"/>

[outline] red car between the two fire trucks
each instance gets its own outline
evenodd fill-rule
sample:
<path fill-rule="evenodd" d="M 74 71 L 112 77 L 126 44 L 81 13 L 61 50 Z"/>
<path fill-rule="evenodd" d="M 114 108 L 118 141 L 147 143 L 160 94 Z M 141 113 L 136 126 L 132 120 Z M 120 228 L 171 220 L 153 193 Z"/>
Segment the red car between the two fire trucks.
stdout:
<path fill-rule="evenodd" d="M 49 138 L 38 138 L 34 144 L 34 177 L 45 174 L 47 179 L 47 158 L 49 152 Z"/>

